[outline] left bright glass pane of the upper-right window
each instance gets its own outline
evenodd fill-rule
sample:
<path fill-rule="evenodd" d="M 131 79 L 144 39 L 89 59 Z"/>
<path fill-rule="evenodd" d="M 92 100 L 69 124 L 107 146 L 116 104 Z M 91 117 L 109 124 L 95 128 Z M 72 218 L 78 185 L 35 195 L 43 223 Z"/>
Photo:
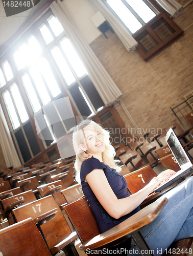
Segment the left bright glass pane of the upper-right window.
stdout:
<path fill-rule="evenodd" d="M 107 4 L 113 9 L 118 17 L 125 23 L 131 33 L 135 33 L 142 25 L 121 0 L 107 0 Z"/>

